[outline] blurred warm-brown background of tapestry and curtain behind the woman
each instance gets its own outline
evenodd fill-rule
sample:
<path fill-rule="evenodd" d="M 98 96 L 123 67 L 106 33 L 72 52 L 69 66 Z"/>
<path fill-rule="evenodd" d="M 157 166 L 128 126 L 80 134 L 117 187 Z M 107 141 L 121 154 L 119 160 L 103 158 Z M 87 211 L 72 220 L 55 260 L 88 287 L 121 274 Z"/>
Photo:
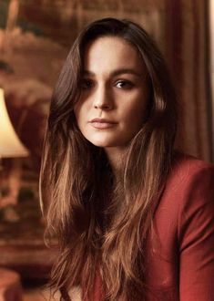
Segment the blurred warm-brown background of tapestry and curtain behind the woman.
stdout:
<path fill-rule="evenodd" d="M 15 137 L 1 132 L 2 109 L 0 283 L 1 268 L 9 268 L 18 276 L 16 286 L 11 285 L 16 293 L 17 287 L 21 291 L 22 286 L 42 285 L 55 258 L 43 243 L 44 223 L 38 205 L 42 143 L 60 68 L 77 33 L 87 23 L 106 16 L 128 18 L 154 37 L 177 89 L 177 148 L 214 161 L 213 2 L 0 0 L 0 101 L 5 103 L 8 129 L 14 130 Z M 4 143 L 14 151 L 7 150 Z M 27 294 L 25 300 L 40 300 Z"/>

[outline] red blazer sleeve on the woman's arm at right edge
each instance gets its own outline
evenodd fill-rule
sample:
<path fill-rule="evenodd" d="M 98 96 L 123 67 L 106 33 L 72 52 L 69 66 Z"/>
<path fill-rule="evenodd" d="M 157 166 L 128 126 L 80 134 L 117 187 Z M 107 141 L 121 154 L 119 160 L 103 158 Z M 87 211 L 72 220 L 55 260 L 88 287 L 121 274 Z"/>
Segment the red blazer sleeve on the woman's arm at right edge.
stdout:
<path fill-rule="evenodd" d="M 214 300 L 214 167 L 189 178 L 179 205 L 180 301 Z"/>

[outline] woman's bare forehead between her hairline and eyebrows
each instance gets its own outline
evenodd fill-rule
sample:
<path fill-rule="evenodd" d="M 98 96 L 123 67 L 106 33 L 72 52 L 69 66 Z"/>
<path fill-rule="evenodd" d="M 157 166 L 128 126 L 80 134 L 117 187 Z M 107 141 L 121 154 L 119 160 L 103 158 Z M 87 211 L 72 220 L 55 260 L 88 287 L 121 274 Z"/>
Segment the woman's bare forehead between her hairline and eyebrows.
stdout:
<path fill-rule="evenodd" d="M 90 42 L 84 52 L 84 69 L 92 72 L 107 72 L 117 68 L 134 68 L 139 73 L 147 72 L 138 49 L 117 36 L 101 36 Z"/>

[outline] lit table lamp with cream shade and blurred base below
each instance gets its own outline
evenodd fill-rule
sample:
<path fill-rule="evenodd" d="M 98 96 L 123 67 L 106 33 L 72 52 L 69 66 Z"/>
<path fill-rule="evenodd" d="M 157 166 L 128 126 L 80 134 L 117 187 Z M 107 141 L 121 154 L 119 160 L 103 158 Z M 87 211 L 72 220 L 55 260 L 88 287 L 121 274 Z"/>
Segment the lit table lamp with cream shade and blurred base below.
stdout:
<path fill-rule="evenodd" d="M 25 157 L 28 154 L 29 151 L 19 140 L 9 119 L 5 106 L 4 90 L 0 88 L 0 171 L 3 169 L 1 163 L 3 158 Z M 0 187 L 0 208 L 10 204 L 10 202 L 12 202 L 12 196 L 14 197 L 14 202 L 16 202 L 20 179 L 18 174 L 16 174 L 15 177 L 16 179 L 14 179 L 9 197 L 3 198 Z"/>

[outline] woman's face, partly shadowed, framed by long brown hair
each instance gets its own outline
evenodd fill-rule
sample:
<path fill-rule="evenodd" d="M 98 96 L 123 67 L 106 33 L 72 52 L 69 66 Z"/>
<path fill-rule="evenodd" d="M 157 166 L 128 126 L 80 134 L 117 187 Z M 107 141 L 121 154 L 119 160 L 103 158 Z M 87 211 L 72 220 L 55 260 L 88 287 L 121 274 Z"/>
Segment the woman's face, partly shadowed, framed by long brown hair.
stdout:
<path fill-rule="evenodd" d="M 126 147 L 147 115 L 149 80 L 138 51 L 120 37 L 104 36 L 85 51 L 79 130 L 98 147 Z"/>

